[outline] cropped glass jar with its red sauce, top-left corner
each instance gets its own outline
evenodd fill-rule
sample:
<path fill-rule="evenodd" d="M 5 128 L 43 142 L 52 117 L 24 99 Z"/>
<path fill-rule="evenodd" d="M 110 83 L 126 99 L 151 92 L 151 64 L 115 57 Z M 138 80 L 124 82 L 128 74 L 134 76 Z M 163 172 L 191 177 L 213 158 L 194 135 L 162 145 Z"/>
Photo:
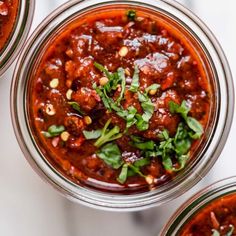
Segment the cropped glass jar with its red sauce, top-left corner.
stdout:
<path fill-rule="evenodd" d="M 0 35 L 0 76 L 12 64 L 27 38 L 34 5 L 34 0 L 1 1 L 0 27 L 3 35 Z"/>

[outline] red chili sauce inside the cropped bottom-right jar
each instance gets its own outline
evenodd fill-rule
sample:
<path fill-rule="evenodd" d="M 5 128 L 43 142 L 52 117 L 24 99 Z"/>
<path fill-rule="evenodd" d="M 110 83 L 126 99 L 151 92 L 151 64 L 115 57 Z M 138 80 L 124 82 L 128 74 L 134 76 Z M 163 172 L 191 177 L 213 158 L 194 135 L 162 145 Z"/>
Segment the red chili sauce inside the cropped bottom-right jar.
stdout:
<path fill-rule="evenodd" d="M 183 227 L 183 236 L 220 236 L 236 234 L 236 194 L 212 201 Z"/>

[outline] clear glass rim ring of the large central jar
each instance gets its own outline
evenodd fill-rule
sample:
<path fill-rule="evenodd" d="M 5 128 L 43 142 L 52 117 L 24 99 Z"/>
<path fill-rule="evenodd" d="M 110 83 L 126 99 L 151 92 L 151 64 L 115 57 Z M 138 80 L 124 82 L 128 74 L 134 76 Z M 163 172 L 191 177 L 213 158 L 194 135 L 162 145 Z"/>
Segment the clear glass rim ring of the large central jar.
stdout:
<path fill-rule="evenodd" d="M 183 22 L 189 31 L 198 36 L 198 39 L 203 46 L 208 46 L 205 50 L 206 54 L 210 56 L 212 63 L 215 65 L 215 74 L 217 75 L 216 80 L 217 83 L 219 83 L 220 89 L 219 94 L 221 96 L 224 95 L 219 99 L 221 112 L 218 111 L 217 114 L 219 122 L 216 124 L 214 130 L 215 135 L 211 138 L 207 150 L 205 150 L 204 155 L 202 155 L 201 162 L 196 164 L 194 173 L 191 175 L 189 174 L 188 179 L 184 179 L 184 181 L 181 180 L 181 182 L 179 181 L 178 185 L 176 182 L 172 182 L 168 188 L 164 186 L 165 188 L 160 187 L 157 190 L 150 192 L 122 196 L 105 194 L 78 186 L 53 170 L 43 160 L 39 152 L 35 152 L 37 147 L 30 135 L 25 110 L 22 108 L 24 107 L 22 105 L 25 104 L 24 91 L 27 80 L 26 72 L 29 70 L 28 63 L 25 63 L 25 61 L 32 58 L 32 55 L 29 55 L 30 53 L 33 53 L 32 48 L 34 44 L 37 44 L 37 41 L 45 40 L 48 37 L 48 34 L 57 27 L 56 20 L 62 22 L 68 18 L 68 15 L 69 17 L 73 14 L 79 15 L 83 10 L 94 9 L 98 6 L 111 5 L 114 7 L 116 4 L 141 6 L 154 11 L 165 12 L 171 16 L 175 16 L 175 19 L 179 19 L 179 21 Z M 218 79 L 219 77 L 221 80 Z M 145 3 L 142 0 L 124 0 L 119 2 L 116 0 L 104 0 L 103 2 L 97 0 L 73 0 L 65 3 L 49 15 L 31 36 L 20 55 L 11 89 L 11 114 L 15 134 L 23 153 L 33 168 L 67 197 L 79 201 L 84 205 L 113 211 L 134 211 L 154 205 L 160 205 L 183 194 L 196 184 L 213 166 L 223 149 L 230 130 L 233 109 L 234 92 L 231 72 L 217 40 L 209 29 L 192 12 L 179 3 L 170 0 L 148 0 Z"/>

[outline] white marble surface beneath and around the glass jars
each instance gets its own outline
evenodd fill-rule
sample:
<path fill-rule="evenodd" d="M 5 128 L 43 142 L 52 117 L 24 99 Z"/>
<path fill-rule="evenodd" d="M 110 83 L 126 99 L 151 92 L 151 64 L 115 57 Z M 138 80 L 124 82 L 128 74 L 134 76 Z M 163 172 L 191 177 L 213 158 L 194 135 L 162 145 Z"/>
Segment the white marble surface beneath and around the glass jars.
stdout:
<path fill-rule="evenodd" d="M 65 0 L 36 1 L 33 27 Z M 235 0 L 182 0 L 211 28 L 236 76 Z M 30 168 L 16 142 L 9 109 L 13 67 L 0 80 L 0 235 L 2 236 L 154 236 L 192 193 L 236 173 L 236 122 L 210 173 L 191 191 L 162 207 L 138 213 L 108 213 L 61 197 Z M 236 118 L 235 118 L 236 119 Z"/>

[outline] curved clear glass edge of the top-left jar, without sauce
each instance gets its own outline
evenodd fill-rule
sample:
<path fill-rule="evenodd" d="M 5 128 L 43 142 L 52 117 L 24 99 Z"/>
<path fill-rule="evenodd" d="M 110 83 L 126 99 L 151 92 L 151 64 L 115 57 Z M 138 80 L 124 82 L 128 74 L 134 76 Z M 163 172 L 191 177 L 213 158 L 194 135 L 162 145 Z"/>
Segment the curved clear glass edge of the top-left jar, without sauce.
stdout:
<path fill-rule="evenodd" d="M 0 53 L 0 76 L 12 64 L 27 38 L 34 15 L 34 5 L 34 0 L 19 0 L 13 29 Z"/>

